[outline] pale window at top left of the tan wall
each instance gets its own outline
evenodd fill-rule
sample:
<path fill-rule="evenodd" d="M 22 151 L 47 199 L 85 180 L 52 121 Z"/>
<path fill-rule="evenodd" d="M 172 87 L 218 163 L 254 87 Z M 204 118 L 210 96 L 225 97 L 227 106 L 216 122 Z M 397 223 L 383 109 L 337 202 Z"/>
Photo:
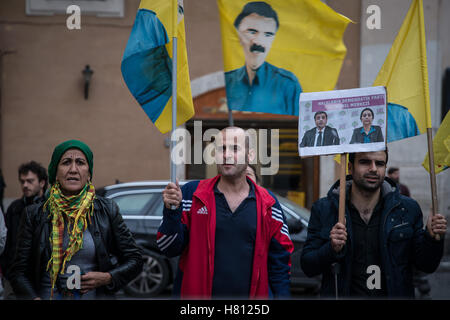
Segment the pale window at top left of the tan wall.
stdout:
<path fill-rule="evenodd" d="M 50 16 L 66 14 L 67 7 L 77 5 L 81 15 L 96 15 L 98 17 L 124 16 L 124 0 L 26 0 L 27 15 Z"/>

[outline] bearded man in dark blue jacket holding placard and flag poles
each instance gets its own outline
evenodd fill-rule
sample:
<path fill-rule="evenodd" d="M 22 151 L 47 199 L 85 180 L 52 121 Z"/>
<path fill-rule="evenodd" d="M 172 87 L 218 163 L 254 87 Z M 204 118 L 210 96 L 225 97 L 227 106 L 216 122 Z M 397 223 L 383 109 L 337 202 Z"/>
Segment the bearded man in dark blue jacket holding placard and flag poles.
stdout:
<path fill-rule="evenodd" d="M 427 273 L 439 266 L 447 221 L 430 215 L 423 229 L 417 202 L 385 178 L 387 157 L 350 154 L 345 224 L 338 222 L 339 181 L 313 204 L 301 266 L 307 276 L 322 274 L 322 296 L 414 298 L 413 266 Z"/>

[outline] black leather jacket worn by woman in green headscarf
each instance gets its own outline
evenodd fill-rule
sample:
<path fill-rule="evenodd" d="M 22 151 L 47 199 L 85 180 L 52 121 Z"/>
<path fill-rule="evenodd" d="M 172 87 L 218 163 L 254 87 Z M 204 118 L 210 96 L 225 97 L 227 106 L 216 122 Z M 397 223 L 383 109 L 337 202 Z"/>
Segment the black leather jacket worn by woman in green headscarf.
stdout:
<path fill-rule="evenodd" d="M 119 207 L 112 200 L 96 196 L 92 223 L 88 226 L 94 239 L 97 266 L 109 272 L 112 282 L 97 288 L 97 297 L 113 296 L 141 272 L 141 249 L 123 222 Z M 51 255 L 51 218 L 43 212 L 43 203 L 26 208 L 21 220 L 17 254 L 10 281 L 19 298 L 38 297 L 41 280 Z"/>

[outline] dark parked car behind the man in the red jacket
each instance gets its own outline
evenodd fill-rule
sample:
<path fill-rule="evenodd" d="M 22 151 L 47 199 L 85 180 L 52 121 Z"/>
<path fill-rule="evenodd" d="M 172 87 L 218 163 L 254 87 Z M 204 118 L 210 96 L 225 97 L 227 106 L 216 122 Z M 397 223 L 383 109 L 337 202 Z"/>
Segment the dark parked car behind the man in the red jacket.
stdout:
<path fill-rule="evenodd" d="M 184 183 L 180 182 L 180 186 Z M 164 205 L 162 191 L 167 184 L 168 181 L 129 182 L 110 185 L 101 190 L 103 196 L 117 203 L 137 244 L 143 248 L 145 263 L 142 272 L 124 288 L 130 296 L 157 296 L 173 283 L 176 274 L 178 258 L 167 258 L 156 245 Z M 300 268 L 300 254 L 306 240 L 310 212 L 284 197 L 276 196 L 285 213 L 294 243 L 291 286 L 317 291 L 320 280 L 306 277 Z"/>

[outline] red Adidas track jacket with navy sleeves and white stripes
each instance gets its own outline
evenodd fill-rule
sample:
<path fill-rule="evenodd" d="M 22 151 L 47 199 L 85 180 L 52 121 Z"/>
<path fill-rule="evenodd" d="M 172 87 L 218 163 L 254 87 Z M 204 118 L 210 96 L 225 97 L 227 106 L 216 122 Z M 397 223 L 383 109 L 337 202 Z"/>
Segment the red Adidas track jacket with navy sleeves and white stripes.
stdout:
<path fill-rule="evenodd" d="M 181 272 L 175 279 L 174 291 L 179 290 L 182 298 L 211 297 L 216 231 L 214 185 L 219 178 L 187 183 L 182 187 L 182 205 L 177 210 L 164 208 L 157 242 L 165 255 L 181 254 Z M 275 297 L 288 297 L 294 246 L 278 201 L 266 189 L 254 186 L 257 227 L 249 298 L 268 298 L 269 291 Z"/>

